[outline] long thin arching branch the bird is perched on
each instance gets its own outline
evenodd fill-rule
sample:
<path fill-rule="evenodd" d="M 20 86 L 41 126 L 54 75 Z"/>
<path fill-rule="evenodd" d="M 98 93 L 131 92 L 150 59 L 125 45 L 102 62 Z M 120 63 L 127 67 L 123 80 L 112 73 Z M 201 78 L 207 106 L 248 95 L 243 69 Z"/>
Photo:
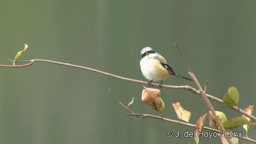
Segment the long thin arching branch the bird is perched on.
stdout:
<path fill-rule="evenodd" d="M 12 60 L 10 60 L 12 61 Z M 13 62 L 13 61 L 12 61 Z M 100 70 L 96 70 L 96 69 L 93 69 L 93 68 L 87 68 L 87 67 L 84 67 L 84 66 L 78 66 L 78 65 L 74 65 L 74 64 L 68 64 L 68 63 L 63 63 L 63 62 L 56 62 L 56 61 L 52 61 L 52 60 L 42 60 L 42 59 L 35 59 L 35 60 L 25 60 L 25 61 L 21 61 L 21 62 L 29 62 L 28 64 L 24 64 L 24 65 L 18 65 L 18 66 L 13 66 L 13 65 L 0 65 L 0 67 L 8 67 L 8 68 L 22 68 L 22 67 L 26 67 L 26 66 L 30 66 L 32 64 L 34 64 L 34 62 L 49 62 L 49 63 L 52 63 L 52 64 L 59 64 L 59 65 L 63 65 L 63 66 L 71 66 L 71 67 L 74 67 L 74 68 L 81 68 L 81 69 L 84 69 L 84 70 L 90 70 L 92 72 L 97 72 L 97 73 L 100 73 L 100 74 L 104 74 L 106 76 L 111 76 L 111 77 L 114 77 L 114 78 L 118 78 L 120 80 L 126 80 L 126 81 L 130 81 L 130 82 L 136 82 L 136 83 L 140 83 L 140 84 L 147 84 L 148 82 L 145 82 L 145 81 L 141 81 L 141 80 L 134 80 L 134 79 L 131 79 L 131 78 L 124 78 L 122 76 L 117 76 L 117 75 L 114 75 L 114 74 L 110 74 L 110 73 L 107 73 L 107 72 L 102 72 Z M 159 84 L 156 84 L 156 83 L 152 83 L 152 86 L 159 86 Z M 174 88 L 174 89 L 185 89 L 185 90 L 189 90 L 195 94 L 199 94 L 201 95 L 200 91 L 199 90 L 196 90 L 195 88 L 192 88 L 191 86 L 170 86 L 170 85 L 162 85 L 163 88 Z M 220 100 L 219 98 L 216 98 L 215 96 L 211 96 L 209 94 L 206 94 L 207 98 L 215 101 L 215 102 L 218 102 L 220 104 L 222 104 L 222 100 Z M 247 112 L 244 112 L 244 110 L 242 109 L 239 109 L 237 108 L 236 106 L 229 106 L 230 108 L 232 108 L 233 110 L 247 116 L 248 118 L 252 119 L 254 122 L 256 122 L 256 117 L 248 114 Z"/>

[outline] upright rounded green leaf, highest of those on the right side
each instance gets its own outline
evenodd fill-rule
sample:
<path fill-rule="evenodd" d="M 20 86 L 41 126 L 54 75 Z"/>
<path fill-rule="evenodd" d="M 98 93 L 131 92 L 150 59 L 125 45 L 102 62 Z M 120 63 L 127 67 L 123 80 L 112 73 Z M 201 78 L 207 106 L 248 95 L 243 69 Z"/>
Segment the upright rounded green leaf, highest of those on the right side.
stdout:
<path fill-rule="evenodd" d="M 226 106 L 238 106 L 239 94 L 237 89 L 234 86 L 230 87 L 222 100 L 222 103 Z"/>

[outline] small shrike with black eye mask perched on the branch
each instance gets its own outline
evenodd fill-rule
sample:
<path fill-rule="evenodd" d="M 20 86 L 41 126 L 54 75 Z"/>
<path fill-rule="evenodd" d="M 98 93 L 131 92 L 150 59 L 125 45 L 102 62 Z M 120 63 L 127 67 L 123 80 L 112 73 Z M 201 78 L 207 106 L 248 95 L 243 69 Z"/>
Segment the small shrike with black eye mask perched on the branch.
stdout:
<path fill-rule="evenodd" d="M 167 64 L 164 57 L 155 52 L 152 48 L 143 48 L 140 54 L 142 56 L 142 59 L 140 60 L 140 69 L 143 76 L 149 80 L 149 86 L 151 85 L 152 81 L 161 80 L 161 83 L 158 86 L 161 88 L 163 79 L 167 78 L 168 76 L 191 80 L 190 78 L 176 75 L 172 70 L 172 67 Z"/>

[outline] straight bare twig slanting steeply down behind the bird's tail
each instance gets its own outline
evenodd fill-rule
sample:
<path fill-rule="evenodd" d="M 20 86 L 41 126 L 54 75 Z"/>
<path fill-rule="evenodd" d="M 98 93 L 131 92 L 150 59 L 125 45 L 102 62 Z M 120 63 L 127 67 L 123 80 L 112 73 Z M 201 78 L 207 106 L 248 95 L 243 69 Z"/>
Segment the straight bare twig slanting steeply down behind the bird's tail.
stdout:
<path fill-rule="evenodd" d="M 194 82 L 195 82 L 195 84 L 196 84 L 198 90 L 200 91 L 200 94 L 201 94 L 201 96 L 203 97 L 203 99 L 204 99 L 206 105 L 208 106 L 208 108 L 209 108 L 210 111 L 212 112 L 215 121 L 217 122 L 217 124 L 218 124 L 218 126 L 220 127 L 220 129 L 221 129 L 222 131 L 225 131 L 225 128 L 224 128 L 224 126 L 222 125 L 222 123 L 221 123 L 221 121 L 220 121 L 220 118 L 217 116 L 217 114 L 216 114 L 216 112 L 215 112 L 215 110 L 214 110 L 212 104 L 210 103 L 210 101 L 208 100 L 208 98 L 207 98 L 207 96 L 206 96 L 206 91 L 204 91 L 204 90 L 202 89 L 202 87 L 200 86 L 198 80 L 196 79 L 196 76 L 193 74 L 192 70 L 189 68 L 188 63 L 186 62 L 186 60 L 185 60 L 185 58 L 184 58 L 182 52 L 180 51 L 180 48 L 179 48 L 176 44 L 175 44 L 175 46 L 176 46 L 176 48 L 178 49 L 178 51 L 180 52 L 180 55 L 181 55 L 183 61 L 185 62 L 186 66 L 187 66 L 187 68 L 188 68 L 188 73 L 190 74 L 190 76 L 191 76 L 192 79 L 194 80 Z M 208 82 L 206 83 L 205 90 L 207 89 L 207 84 L 208 84 Z M 229 138 L 226 138 L 226 140 L 228 141 L 229 144 L 233 144 L 233 142 L 232 142 Z"/>

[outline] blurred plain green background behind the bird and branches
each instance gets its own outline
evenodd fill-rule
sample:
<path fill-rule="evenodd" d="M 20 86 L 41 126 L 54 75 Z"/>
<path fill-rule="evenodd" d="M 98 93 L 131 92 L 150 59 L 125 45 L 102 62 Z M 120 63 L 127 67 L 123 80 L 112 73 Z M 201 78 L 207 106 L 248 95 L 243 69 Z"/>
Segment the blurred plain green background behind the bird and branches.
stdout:
<path fill-rule="evenodd" d="M 255 105 L 256 1 L 233 0 L 1 0 L 0 64 L 47 59 L 146 80 L 140 71 L 140 51 L 152 47 L 189 77 L 174 44 L 208 94 L 221 98 L 235 86 L 239 107 Z M 190 85 L 179 78 L 164 84 Z M 142 85 L 91 71 L 38 62 L 26 68 L 0 67 L 1 144 L 190 143 L 194 138 L 168 138 L 167 130 L 188 128 L 152 118 L 126 116 L 108 91 L 130 109 L 158 115 L 141 102 Z M 208 112 L 201 96 L 188 90 L 161 88 L 164 117 L 178 120 L 171 103 L 179 100 L 192 112 L 190 123 Z M 216 102 L 228 119 L 241 116 Z M 255 114 L 254 114 L 255 115 Z M 206 119 L 206 126 L 208 118 Z M 242 127 L 233 131 L 243 132 Z M 248 136 L 256 137 L 249 129 Z M 202 138 L 202 144 L 220 143 Z M 240 140 L 240 144 L 247 144 Z"/>

